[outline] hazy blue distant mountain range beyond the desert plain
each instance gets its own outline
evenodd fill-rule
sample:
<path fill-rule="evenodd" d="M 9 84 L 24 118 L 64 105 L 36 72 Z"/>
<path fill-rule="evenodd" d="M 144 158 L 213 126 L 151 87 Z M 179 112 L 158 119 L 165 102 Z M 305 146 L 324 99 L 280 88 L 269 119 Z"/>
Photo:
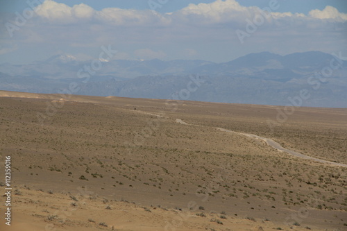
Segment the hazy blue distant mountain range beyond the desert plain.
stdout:
<path fill-rule="evenodd" d="M 251 53 L 223 63 L 99 60 L 100 66 L 94 66 L 98 68 L 88 69 L 96 61 L 55 55 L 28 65 L 1 64 L 0 89 L 59 93 L 74 82 L 79 87 L 75 94 L 268 105 L 288 105 L 288 97 L 299 96 L 307 89 L 310 97 L 303 100 L 304 106 L 347 108 L 347 61 L 330 73 L 330 62 L 339 62 L 320 51 L 285 56 Z M 319 79 L 316 73 L 322 70 L 326 78 Z M 90 78 L 85 77 L 88 75 Z M 187 94 L 192 88 L 188 83 L 196 75 L 204 83 Z"/>

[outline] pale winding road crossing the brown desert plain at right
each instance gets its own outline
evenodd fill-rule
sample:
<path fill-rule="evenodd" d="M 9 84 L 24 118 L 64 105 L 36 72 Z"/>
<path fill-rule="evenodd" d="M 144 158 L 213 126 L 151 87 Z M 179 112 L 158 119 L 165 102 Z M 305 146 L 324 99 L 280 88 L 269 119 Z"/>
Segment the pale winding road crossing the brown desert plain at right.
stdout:
<path fill-rule="evenodd" d="M 176 122 L 184 124 L 184 125 L 193 125 L 193 126 L 195 126 L 194 124 L 186 123 L 182 119 L 176 119 Z M 253 139 L 260 139 L 260 140 L 264 141 L 266 144 L 268 144 L 269 146 L 271 146 L 273 148 L 276 148 L 280 152 L 285 152 L 285 153 L 288 153 L 289 155 L 295 155 L 295 156 L 301 157 L 303 159 L 314 160 L 316 162 L 321 162 L 323 164 L 332 164 L 332 165 L 335 165 L 335 166 L 347 167 L 347 164 L 331 162 L 331 161 L 328 161 L 328 160 L 321 160 L 321 159 L 318 159 L 318 158 L 315 158 L 315 157 L 310 157 L 308 155 L 303 155 L 301 153 L 298 153 L 296 151 L 292 151 L 292 150 L 287 149 L 287 148 L 283 148 L 280 144 L 278 144 L 278 142 L 275 142 L 273 139 L 260 137 L 258 135 L 254 135 L 254 134 L 248 134 L 248 133 L 242 133 L 242 132 L 234 132 L 232 130 L 228 130 L 228 129 L 225 129 L 225 128 L 217 128 L 217 130 L 221 130 L 222 132 L 232 132 L 232 133 L 235 133 L 235 134 L 238 134 L 238 135 L 244 135 L 246 137 L 251 137 Z"/>

